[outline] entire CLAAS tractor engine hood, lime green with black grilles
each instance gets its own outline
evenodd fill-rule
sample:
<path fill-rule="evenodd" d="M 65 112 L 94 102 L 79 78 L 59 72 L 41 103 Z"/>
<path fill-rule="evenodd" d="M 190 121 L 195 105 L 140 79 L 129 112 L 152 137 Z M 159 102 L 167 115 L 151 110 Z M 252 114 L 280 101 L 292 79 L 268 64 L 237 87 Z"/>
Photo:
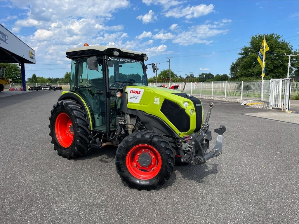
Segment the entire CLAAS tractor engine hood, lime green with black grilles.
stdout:
<path fill-rule="evenodd" d="M 179 136 L 192 134 L 202 126 L 201 101 L 194 96 L 157 86 L 126 86 L 125 92 L 126 96 L 123 97 L 127 98 L 128 109 L 143 111 L 161 118 Z M 175 107 L 168 105 L 175 105 Z M 184 119 L 180 117 L 174 119 L 178 111 Z"/>

